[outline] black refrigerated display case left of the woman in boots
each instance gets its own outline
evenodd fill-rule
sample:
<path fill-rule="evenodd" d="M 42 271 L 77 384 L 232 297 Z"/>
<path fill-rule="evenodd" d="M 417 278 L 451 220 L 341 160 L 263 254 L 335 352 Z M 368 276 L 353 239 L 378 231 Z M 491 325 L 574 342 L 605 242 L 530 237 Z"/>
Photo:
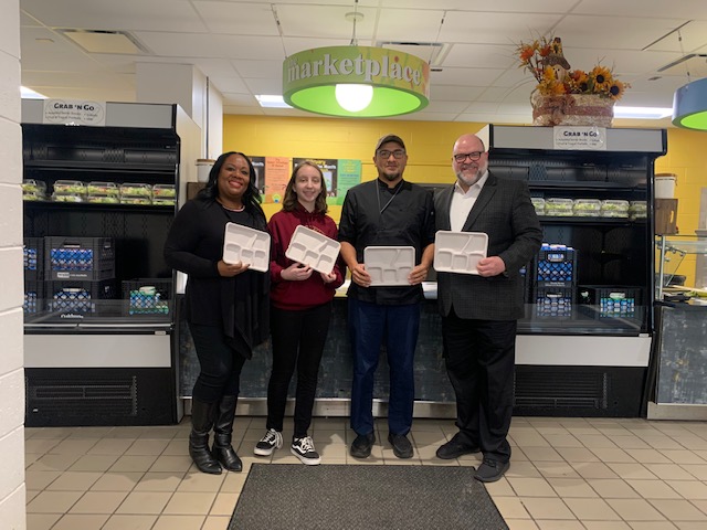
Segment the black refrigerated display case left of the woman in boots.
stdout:
<path fill-rule="evenodd" d="M 104 126 L 45 124 L 42 105 L 22 104 L 24 179 L 46 190 L 23 201 L 25 424 L 176 423 L 162 246 L 200 129 L 177 105 L 108 103 Z"/>

